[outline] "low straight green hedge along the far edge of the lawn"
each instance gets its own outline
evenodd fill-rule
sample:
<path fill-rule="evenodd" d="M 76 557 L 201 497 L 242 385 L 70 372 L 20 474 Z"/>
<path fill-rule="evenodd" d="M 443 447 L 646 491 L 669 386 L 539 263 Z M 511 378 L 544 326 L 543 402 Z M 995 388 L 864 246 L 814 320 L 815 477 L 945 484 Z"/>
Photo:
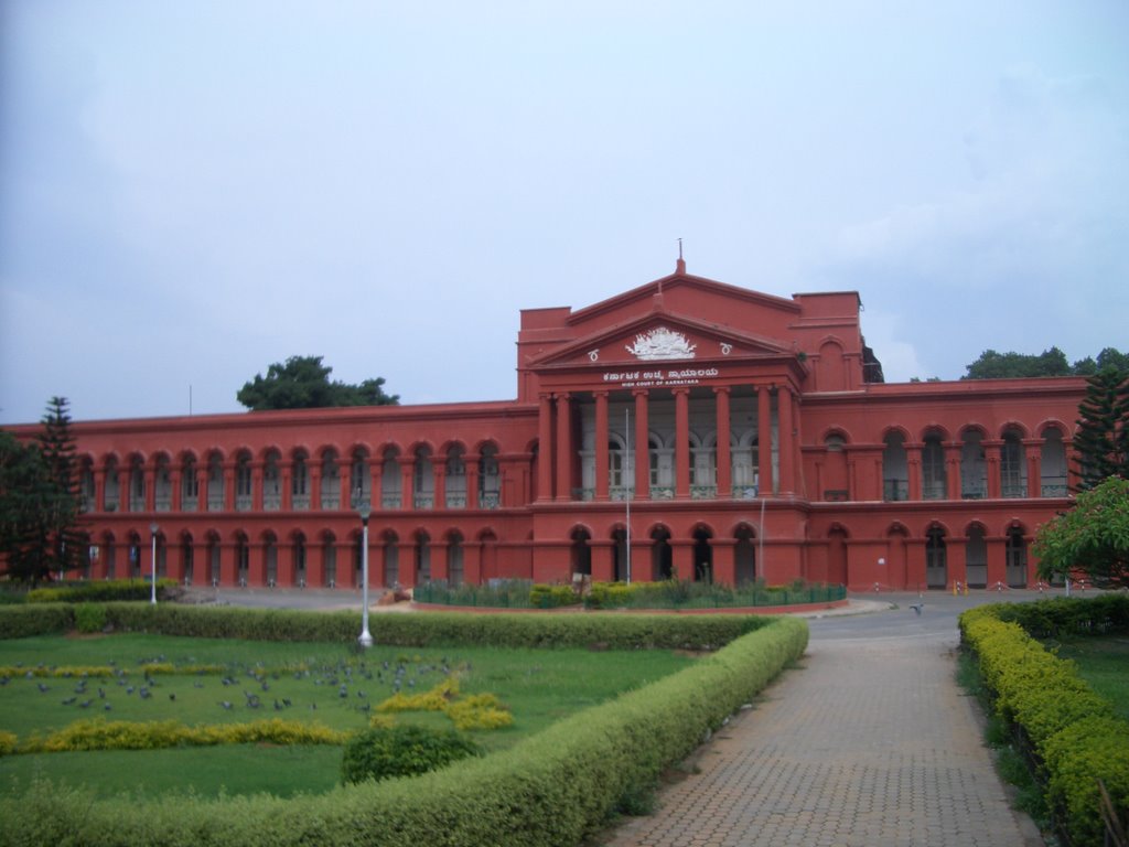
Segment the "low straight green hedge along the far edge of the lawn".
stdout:
<path fill-rule="evenodd" d="M 106 603 L 106 626 L 200 638 L 270 641 L 341 641 L 360 634 L 360 611 L 301 612 L 175 603 Z M 404 647 L 492 644 L 499 647 L 605 647 L 609 649 L 712 649 L 767 623 L 743 614 L 423 614 L 369 617 L 378 644 Z M 51 603 L 0 606 L 0 638 L 63 632 L 75 627 L 75 606 Z"/>

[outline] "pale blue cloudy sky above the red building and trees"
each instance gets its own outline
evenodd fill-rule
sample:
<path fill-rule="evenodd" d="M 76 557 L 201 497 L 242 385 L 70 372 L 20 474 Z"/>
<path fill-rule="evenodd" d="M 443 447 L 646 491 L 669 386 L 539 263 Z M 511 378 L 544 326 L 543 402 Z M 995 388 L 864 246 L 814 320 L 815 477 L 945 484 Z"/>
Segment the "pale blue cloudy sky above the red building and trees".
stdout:
<path fill-rule="evenodd" d="M 2 422 L 509 399 L 679 237 L 890 382 L 1126 350 L 1129 3 L 0 0 Z"/>

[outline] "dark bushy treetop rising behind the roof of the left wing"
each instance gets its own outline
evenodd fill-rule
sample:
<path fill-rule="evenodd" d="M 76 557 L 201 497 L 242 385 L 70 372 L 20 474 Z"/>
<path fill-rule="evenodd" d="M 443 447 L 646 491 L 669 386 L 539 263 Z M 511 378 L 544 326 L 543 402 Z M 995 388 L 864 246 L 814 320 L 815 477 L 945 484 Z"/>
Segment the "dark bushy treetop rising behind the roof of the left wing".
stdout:
<path fill-rule="evenodd" d="M 333 368 L 321 356 L 291 356 L 274 363 L 266 376 L 244 383 L 235 398 L 252 411 L 265 409 L 320 409 L 338 405 L 395 405 L 399 394 L 384 393 L 384 377 L 359 385 L 330 381 Z"/>

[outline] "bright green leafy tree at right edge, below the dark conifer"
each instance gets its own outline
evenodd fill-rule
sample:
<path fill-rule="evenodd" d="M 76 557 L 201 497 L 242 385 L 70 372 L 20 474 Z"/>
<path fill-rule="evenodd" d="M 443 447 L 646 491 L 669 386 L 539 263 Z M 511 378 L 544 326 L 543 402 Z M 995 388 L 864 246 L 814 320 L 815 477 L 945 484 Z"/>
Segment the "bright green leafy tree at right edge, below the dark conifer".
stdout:
<path fill-rule="evenodd" d="M 1129 587 L 1129 480 L 1110 477 L 1039 527 L 1039 576 L 1085 573 L 1100 588 Z"/>

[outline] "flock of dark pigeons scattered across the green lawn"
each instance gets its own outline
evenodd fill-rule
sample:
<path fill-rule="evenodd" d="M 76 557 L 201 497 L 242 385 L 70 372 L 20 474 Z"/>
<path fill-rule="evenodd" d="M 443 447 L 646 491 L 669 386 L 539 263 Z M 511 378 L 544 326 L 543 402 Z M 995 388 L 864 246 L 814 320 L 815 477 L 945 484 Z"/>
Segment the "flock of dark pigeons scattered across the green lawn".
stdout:
<path fill-rule="evenodd" d="M 146 664 L 150 664 L 154 661 L 143 661 L 142 679 L 137 681 L 137 684 L 131 681 L 130 674 L 117 667 L 114 662 L 110 662 L 110 665 L 113 667 L 111 676 L 97 679 L 97 682 L 104 682 L 105 687 L 103 684 L 95 684 L 93 691 L 90 689 L 90 678 L 85 672 L 79 673 L 77 676 L 71 674 L 55 676 L 52 684 L 49 684 L 41 675 L 45 670 L 45 665 L 40 664 L 36 669 L 27 670 L 24 676 L 27 680 L 36 681 L 36 686 L 42 695 L 47 695 L 56 689 L 59 683 L 54 680 L 64 681 L 64 684 L 70 690 L 65 691 L 69 696 L 60 700 L 60 704 L 63 706 L 89 709 L 97 704 L 104 711 L 112 711 L 113 702 L 110 693 L 114 692 L 115 689 L 119 693 L 123 693 L 126 697 L 132 697 L 135 693 L 141 700 L 154 700 L 156 698 L 154 690 L 164 683 L 158 683 L 149 669 L 145 667 Z M 165 657 L 160 656 L 156 661 L 164 662 Z M 21 665 L 17 666 L 21 667 Z M 460 670 L 470 670 L 470 663 L 464 663 Z M 230 697 L 228 695 L 225 699 L 219 700 L 217 706 L 225 711 L 230 711 L 239 704 L 242 708 L 255 710 L 269 708 L 270 700 L 273 700 L 274 711 L 286 711 L 294 707 L 294 691 L 289 691 L 291 696 L 283 697 L 280 696 L 283 692 L 274 692 L 272 687 L 283 679 L 283 674 L 287 674 L 292 675 L 292 679 L 297 682 L 308 681 L 313 686 L 323 689 L 323 691 L 315 692 L 310 698 L 308 708 L 312 710 L 317 710 L 317 702 L 321 699 L 323 706 L 329 701 L 338 706 L 368 713 L 373 708 L 368 693 L 369 689 L 384 689 L 391 691 L 393 695 L 400 693 L 404 689 L 411 691 L 417 687 L 417 681 L 423 682 L 423 678 L 431 673 L 440 673 L 444 676 L 452 673 L 452 666 L 446 656 L 435 664 L 409 662 L 408 660 L 399 658 L 394 662 L 384 661 L 370 666 L 365 662 L 351 663 L 342 660 L 334 664 L 323 663 L 315 670 L 303 666 L 296 671 L 268 671 L 262 665 L 250 667 L 237 666 L 221 674 L 219 682 L 224 689 L 234 689 L 237 691 L 242 689 L 243 700 L 240 701 L 238 697 Z M 193 688 L 208 688 L 205 681 L 209 675 L 204 672 L 198 672 L 196 679 L 192 682 Z M 11 679 L 7 675 L 0 676 L 0 686 L 7 686 Z M 73 688 L 70 688 L 72 682 Z M 107 688 L 110 689 L 108 692 Z M 283 686 L 283 688 L 292 689 L 292 687 L 287 686 Z M 335 691 L 335 695 L 329 693 L 329 691 Z M 384 697 L 386 695 L 382 693 L 380 696 Z M 176 692 L 168 691 L 167 700 L 168 702 L 177 702 Z"/>

